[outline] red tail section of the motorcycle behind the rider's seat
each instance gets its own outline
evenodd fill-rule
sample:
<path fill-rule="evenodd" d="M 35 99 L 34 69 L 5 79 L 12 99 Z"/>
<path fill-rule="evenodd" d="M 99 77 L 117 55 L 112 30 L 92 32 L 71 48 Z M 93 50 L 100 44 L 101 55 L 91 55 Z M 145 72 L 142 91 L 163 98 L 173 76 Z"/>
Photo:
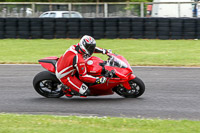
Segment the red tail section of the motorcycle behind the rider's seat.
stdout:
<path fill-rule="evenodd" d="M 46 58 L 40 59 L 39 63 L 42 65 L 42 67 L 44 67 L 48 71 L 55 73 L 55 65 L 58 59 L 59 58 L 56 56 L 46 57 Z"/>

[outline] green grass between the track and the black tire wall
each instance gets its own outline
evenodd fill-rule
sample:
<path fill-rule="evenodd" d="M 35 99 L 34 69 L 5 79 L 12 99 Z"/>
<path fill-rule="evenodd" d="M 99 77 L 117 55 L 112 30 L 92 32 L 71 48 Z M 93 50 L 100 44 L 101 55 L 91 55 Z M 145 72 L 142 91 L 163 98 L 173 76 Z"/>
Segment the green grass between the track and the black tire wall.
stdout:
<path fill-rule="evenodd" d="M 43 57 L 60 57 L 78 41 L 3 39 L 0 63 L 37 63 Z M 97 40 L 97 46 L 123 55 L 131 65 L 200 66 L 200 41 L 195 40 L 101 39 Z"/>

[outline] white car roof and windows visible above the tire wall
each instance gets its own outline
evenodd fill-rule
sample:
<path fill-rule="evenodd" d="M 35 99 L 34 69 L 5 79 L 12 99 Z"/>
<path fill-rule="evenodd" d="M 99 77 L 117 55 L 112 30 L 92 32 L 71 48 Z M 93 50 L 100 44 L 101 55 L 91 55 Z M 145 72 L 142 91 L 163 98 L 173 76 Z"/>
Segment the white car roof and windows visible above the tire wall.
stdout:
<path fill-rule="evenodd" d="M 48 11 L 42 13 L 40 18 L 82 18 L 79 12 L 75 11 Z"/>

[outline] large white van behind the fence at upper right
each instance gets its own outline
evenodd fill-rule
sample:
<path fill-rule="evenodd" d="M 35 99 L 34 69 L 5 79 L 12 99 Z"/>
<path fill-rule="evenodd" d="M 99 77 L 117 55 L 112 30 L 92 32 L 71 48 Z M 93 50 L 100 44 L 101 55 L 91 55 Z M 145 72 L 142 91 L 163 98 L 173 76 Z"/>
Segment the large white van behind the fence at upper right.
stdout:
<path fill-rule="evenodd" d="M 194 0 L 154 0 L 153 2 L 194 2 Z M 192 4 L 153 4 L 152 17 L 193 17 Z"/>

